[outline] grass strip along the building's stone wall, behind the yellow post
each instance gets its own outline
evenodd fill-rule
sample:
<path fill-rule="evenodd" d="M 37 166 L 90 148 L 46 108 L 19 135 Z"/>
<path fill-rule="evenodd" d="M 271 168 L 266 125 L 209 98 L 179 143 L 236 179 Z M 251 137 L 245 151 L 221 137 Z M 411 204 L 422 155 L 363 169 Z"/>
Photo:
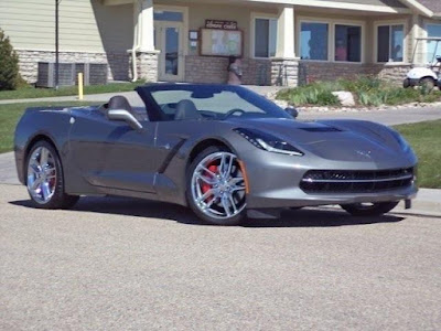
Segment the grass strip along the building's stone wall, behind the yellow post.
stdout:
<path fill-rule="evenodd" d="M 85 86 L 84 94 L 130 92 L 133 90 L 135 87 L 143 84 L 144 82 L 136 82 L 136 83 L 111 83 L 107 85 Z M 31 86 L 25 86 L 15 90 L 0 90 L 0 100 L 44 98 L 44 97 L 56 97 L 56 96 L 69 96 L 77 94 L 78 94 L 77 86 L 60 87 L 58 90 L 55 90 L 53 88 L 34 88 Z"/>

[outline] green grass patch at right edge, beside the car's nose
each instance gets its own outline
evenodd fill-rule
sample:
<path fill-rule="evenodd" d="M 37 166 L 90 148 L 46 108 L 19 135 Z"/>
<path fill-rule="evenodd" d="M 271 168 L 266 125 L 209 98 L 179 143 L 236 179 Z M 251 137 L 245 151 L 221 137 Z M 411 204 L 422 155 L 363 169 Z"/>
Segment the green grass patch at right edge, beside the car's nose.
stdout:
<path fill-rule="evenodd" d="M 419 158 L 420 188 L 441 189 L 441 119 L 396 126 Z"/>

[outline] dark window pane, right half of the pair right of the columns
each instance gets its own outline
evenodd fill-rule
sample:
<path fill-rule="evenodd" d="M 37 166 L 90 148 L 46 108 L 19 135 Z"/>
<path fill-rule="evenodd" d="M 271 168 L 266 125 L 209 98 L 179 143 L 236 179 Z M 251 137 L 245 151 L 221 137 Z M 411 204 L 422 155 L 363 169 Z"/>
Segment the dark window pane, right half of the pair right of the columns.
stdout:
<path fill-rule="evenodd" d="M 362 62 L 362 28 L 335 25 L 335 61 Z"/>

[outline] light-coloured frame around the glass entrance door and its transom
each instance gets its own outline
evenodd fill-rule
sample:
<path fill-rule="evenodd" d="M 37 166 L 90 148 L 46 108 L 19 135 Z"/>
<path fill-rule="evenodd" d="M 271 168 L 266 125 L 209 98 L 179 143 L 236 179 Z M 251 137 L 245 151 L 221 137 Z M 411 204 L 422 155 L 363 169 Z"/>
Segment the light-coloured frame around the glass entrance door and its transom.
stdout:
<path fill-rule="evenodd" d="M 159 81 L 172 81 L 172 82 L 184 82 L 185 79 L 185 57 L 189 55 L 189 7 L 183 6 L 166 6 L 166 4 L 154 4 L 153 10 L 159 11 L 178 11 L 182 12 L 183 21 L 182 22 L 174 22 L 174 21 L 154 21 L 154 29 L 163 29 L 164 26 L 169 25 L 170 28 L 176 26 L 181 29 L 181 50 L 180 50 L 180 57 L 181 57 L 181 73 L 178 76 L 173 75 L 165 75 L 163 73 L 164 68 L 161 66 L 158 67 L 158 78 Z M 161 34 L 157 34 L 155 38 L 160 36 Z M 161 41 L 162 43 L 162 41 Z M 162 54 L 159 54 L 162 56 Z M 162 61 L 162 60 L 161 60 Z"/>

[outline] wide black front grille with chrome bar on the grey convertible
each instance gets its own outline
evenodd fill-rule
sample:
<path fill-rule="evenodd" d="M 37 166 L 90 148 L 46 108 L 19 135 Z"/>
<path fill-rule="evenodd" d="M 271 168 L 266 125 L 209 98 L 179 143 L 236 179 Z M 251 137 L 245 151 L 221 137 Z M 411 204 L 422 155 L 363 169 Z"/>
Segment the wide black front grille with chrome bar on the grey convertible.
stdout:
<path fill-rule="evenodd" d="M 413 182 L 413 168 L 352 171 L 352 170 L 310 170 L 300 188 L 305 193 L 375 193 L 410 186 Z"/>

